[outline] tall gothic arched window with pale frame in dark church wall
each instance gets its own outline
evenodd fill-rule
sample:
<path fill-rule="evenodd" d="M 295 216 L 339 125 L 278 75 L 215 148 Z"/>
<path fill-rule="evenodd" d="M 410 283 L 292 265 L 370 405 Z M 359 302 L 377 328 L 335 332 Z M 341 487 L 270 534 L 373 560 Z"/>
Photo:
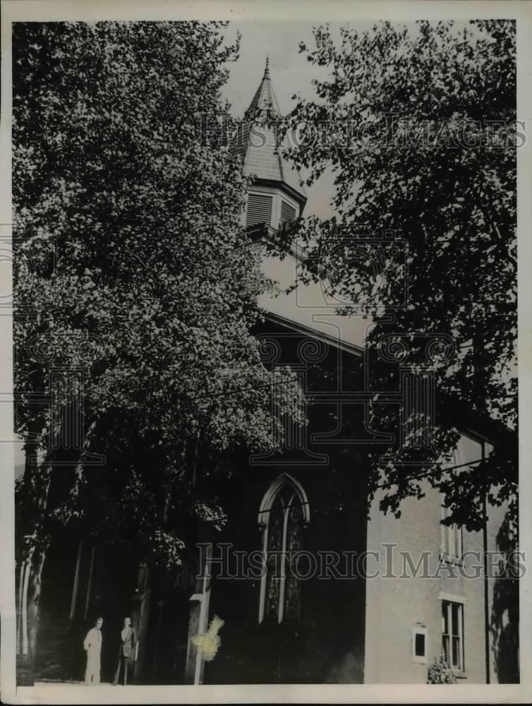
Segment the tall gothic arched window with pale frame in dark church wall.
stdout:
<path fill-rule="evenodd" d="M 262 499 L 259 511 L 264 568 L 259 623 L 298 621 L 300 581 L 291 560 L 303 547 L 303 527 L 309 517 L 301 484 L 286 473 L 279 476 Z"/>

